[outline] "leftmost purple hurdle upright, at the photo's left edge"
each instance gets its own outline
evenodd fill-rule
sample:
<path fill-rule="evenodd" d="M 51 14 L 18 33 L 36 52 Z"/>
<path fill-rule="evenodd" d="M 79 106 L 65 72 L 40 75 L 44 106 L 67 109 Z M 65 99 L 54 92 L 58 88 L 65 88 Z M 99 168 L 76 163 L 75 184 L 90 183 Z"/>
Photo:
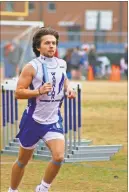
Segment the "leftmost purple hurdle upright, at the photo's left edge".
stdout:
<path fill-rule="evenodd" d="M 2 86 L 2 117 L 3 117 L 3 148 L 6 145 L 6 103 L 5 103 L 5 90 Z"/>

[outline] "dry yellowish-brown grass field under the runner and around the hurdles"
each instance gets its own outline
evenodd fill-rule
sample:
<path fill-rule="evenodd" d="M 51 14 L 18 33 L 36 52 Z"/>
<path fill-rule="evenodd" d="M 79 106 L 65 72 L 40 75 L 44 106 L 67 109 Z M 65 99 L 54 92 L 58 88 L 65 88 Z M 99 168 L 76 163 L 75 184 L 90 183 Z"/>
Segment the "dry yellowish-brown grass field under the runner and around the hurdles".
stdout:
<path fill-rule="evenodd" d="M 127 82 L 83 82 L 82 122 L 83 138 L 93 144 L 123 144 L 123 149 L 108 162 L 64 164 L 50 192 L 127 192 Z M 15 159 L 1 157 L 1 192 L 7 192 Z M 46 165 L 32 160 L 19 191 L 33 192 Z"/>

